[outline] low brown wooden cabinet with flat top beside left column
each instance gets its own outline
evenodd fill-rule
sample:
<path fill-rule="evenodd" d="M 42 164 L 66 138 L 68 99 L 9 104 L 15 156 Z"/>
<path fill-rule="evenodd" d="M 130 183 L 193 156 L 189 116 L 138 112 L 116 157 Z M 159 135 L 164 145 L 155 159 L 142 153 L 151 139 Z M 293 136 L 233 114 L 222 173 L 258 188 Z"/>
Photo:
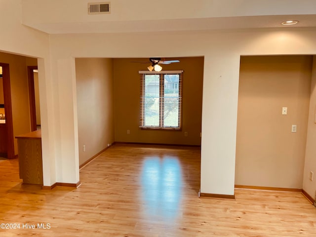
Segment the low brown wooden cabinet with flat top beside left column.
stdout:
<path fill-rule="evenodd" d="M 40 130 L 16 136 L 18 140 L 19 173 L 25 184 L 43 185 Z"/>

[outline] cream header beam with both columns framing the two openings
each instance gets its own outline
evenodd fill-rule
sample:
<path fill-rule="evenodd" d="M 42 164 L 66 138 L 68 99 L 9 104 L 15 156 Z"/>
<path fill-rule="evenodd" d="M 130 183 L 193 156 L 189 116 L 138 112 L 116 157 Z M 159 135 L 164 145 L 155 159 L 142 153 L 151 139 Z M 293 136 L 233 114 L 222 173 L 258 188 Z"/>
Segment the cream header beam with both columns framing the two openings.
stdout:
<path fill-rule="evenodd" d="M 234 194 L 237 128 L 237 92 L 240 55 L 316 54 L 314 29 L 263 29 L 215 32 L 85 34 L 51 36 L 54 77 L 62 86 L 59 94 L 61 146 L 56 164 L 59 182 L 74 182 L 77 171 L 78 135 L 74 57 L 181 57 L 205 56 L 203 81 L 201 192 Z M 157 41 L 154 47 L 153 42 Z M 68 81 L 67 81 L 68 80 Z M 67 112 L 71 110 L 71 113 Z M 61 116 L 61 115 L 58 115 Z M 65 129 L 64 129 L 65 128 Z M 57 157 L 57 156 L 56 156 Z M 66 167 L 67 166 L 67 167 Z M 65 170 L 64 170 L 65 169 Z M 66 170 L 71 172 L 67 173 Z"/>

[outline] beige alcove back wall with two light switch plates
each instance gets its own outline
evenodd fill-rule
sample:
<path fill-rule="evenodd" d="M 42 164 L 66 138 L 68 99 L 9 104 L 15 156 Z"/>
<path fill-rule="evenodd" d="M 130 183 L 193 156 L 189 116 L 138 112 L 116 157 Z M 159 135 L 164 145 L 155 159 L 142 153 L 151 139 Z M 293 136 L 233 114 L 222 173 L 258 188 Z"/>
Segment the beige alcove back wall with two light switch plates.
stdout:
<path fill-rule="evenodd" d="M 237 185 L 297 188 L 303 169 L 312 56 L 240 59 Z M 282 115 L 282 107 L 288 114 Z M 297 125 L 297 133 L 291 125 Z"/>

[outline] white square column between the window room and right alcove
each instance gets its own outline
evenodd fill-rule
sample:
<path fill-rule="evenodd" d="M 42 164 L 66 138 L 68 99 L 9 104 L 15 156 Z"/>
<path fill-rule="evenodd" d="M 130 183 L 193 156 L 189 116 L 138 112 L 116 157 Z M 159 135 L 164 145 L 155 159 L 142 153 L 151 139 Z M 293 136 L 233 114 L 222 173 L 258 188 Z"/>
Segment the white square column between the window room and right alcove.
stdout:
<path fill-rule="evenodd" d="M 205 56 L 201 193 L 234 195 L 238 81 L 239 55 Z"/>

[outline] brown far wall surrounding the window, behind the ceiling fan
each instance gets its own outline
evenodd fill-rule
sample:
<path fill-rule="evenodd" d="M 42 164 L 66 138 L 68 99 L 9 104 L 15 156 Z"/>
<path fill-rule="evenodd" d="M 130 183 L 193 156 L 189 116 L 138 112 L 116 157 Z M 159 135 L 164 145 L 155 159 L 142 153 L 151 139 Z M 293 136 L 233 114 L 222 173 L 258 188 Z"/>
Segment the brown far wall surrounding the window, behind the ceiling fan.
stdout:
<path fill-rule="evenodd" d="M 175 58 L 172 58 L 175 59 Z M 141 130 L 139 128 L 140 76 L 148 58 L 114 59 L 115 141 L 200 145 L 202 116 L 203 57 L 176 58 L 180 63 L 161 65 L 162 70 L 184 70 L 182 131 Z M 127 134 L 130 130 L 130 134 Z M 188 136 L 184 136 L 188 132 Z"/>

